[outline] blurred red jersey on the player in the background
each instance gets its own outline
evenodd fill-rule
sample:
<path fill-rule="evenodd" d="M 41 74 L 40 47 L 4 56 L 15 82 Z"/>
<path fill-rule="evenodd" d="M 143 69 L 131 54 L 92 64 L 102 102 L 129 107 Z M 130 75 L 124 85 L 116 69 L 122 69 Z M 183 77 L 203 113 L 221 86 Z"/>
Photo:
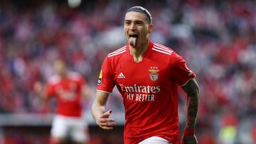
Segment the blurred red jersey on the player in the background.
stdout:
<path fill-rule="evenodd" d="M 82 113 L 81 90 L 85 84 L 85 79 L 77 72 L 69 72 L 66 79 L 55 75 L 48 79 L 46 95 L 57 98 L 58 114 L 79 117 Z"/>

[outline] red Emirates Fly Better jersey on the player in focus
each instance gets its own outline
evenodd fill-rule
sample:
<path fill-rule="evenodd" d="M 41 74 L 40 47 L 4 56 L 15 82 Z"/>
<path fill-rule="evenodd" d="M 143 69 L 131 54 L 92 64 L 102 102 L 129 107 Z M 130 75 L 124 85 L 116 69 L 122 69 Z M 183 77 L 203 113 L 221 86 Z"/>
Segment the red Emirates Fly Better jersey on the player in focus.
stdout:
<path fill-rule="evenodd" d="M 124 143 L 137 144 L 151 136 L 178 140 L 178 94 L 196 75 L 171 48 L 149 43 L 141 62 L 134 62 L 129 45 L 111 52 L 102 64 L 97 91 L 116 85 L 125 108 Z"/>

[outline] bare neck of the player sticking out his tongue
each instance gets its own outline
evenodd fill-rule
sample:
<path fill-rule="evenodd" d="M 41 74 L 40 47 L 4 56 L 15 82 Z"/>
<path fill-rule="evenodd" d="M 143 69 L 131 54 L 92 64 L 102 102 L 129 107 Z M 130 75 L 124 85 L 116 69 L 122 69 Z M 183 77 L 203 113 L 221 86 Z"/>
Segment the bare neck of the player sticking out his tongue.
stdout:
<path fill-rule="evenodd" d="M 132 55 L 134 62 L 140 62 L 143 59 L 144 53 L 149 47 L 149 40 L 143 43 L 142 45 L 138 45 L 136 47 L 132 47 L 129 45 L 130 54 Z"/>

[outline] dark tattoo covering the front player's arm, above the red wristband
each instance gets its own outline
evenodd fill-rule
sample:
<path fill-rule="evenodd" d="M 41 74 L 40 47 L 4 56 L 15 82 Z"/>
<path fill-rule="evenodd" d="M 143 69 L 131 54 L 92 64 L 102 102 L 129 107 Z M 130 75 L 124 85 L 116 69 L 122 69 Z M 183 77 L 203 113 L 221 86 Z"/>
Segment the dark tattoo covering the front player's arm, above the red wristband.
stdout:
<path fill-rule="evenodd" d="M 195 79 L 189 80 L 189 82 L 182 87 L 182 89 L 188 95 L 188 115 L 186 121 L 186 128 L 193 129 L 196 126 L 196 116 L 198 113 L 199 105 L 199 87 Z"/>

